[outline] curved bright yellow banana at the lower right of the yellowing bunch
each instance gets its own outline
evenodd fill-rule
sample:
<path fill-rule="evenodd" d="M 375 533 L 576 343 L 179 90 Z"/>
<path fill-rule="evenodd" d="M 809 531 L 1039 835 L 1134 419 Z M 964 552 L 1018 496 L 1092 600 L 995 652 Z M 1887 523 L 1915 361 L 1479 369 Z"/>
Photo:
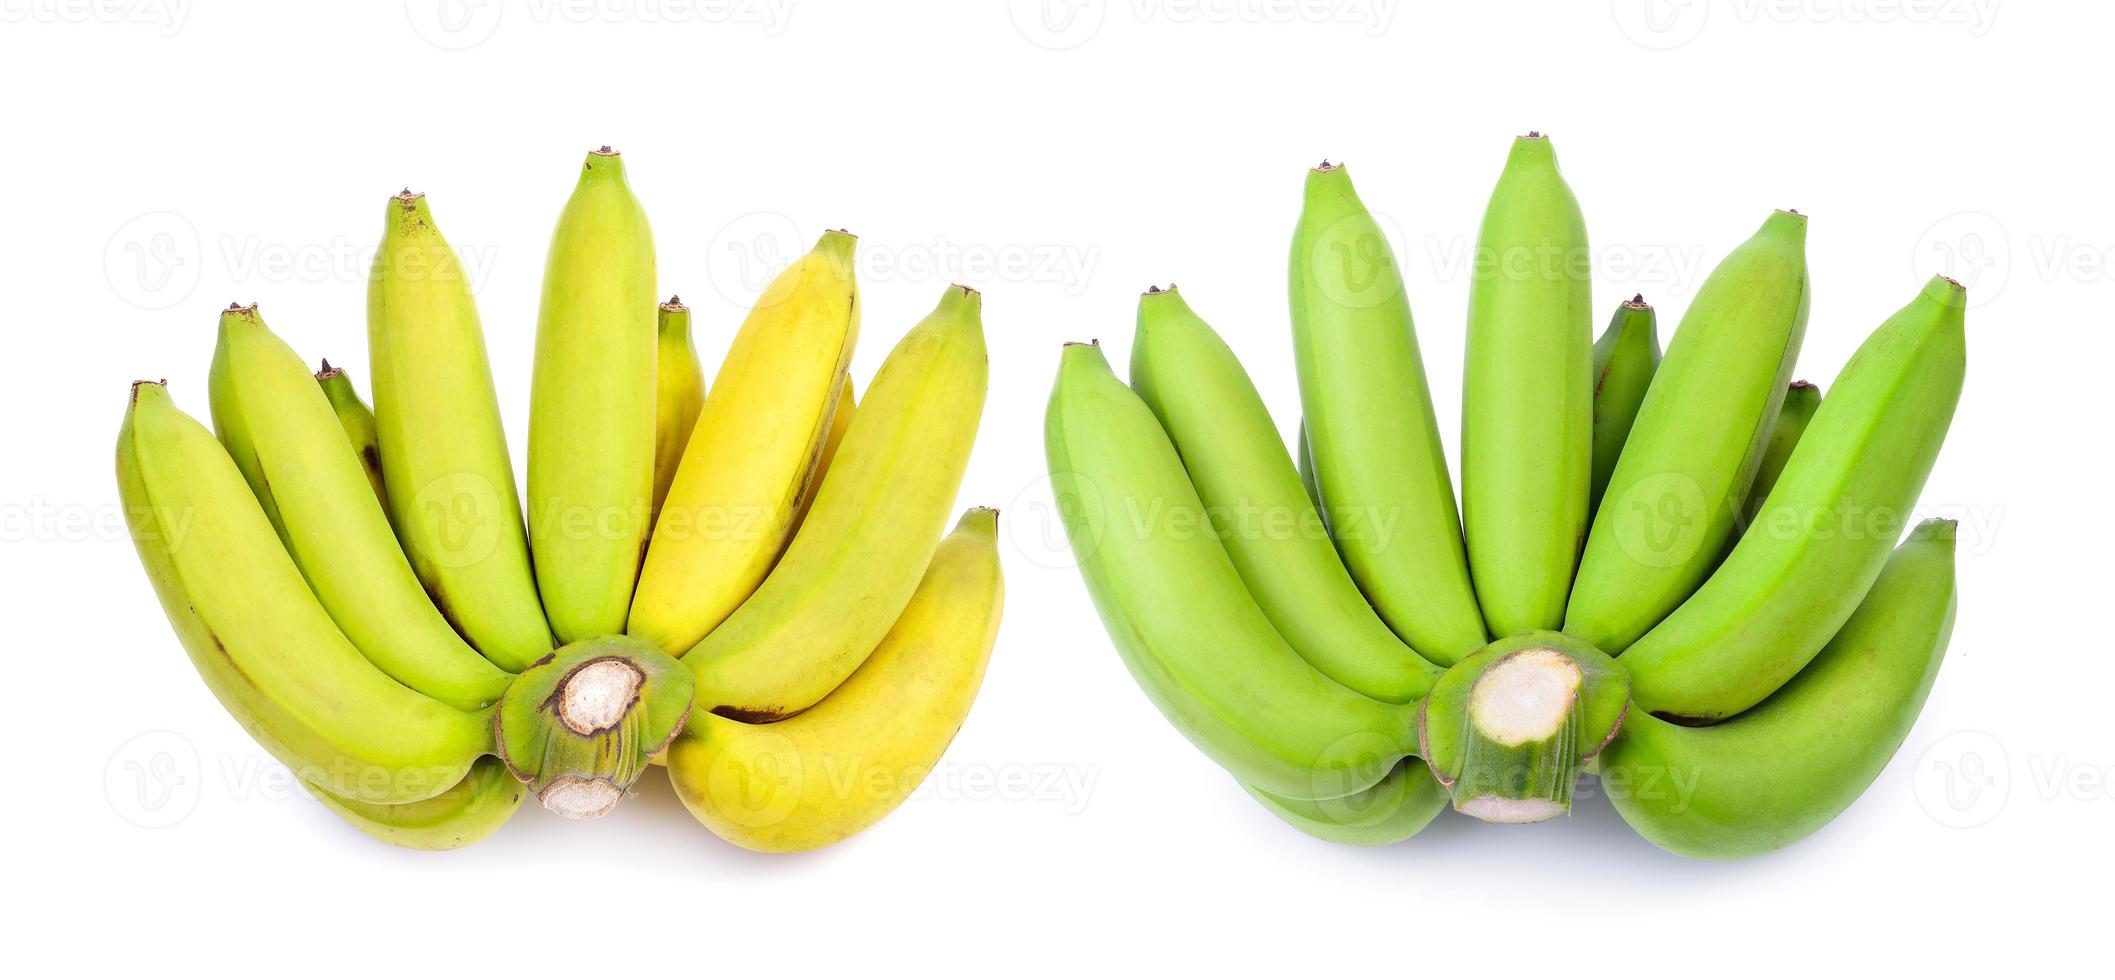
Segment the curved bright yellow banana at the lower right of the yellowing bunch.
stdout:
<path fill-rule="evenodd" d="M 962 514 L 903 616 L 819 705 L 761 726 L 694 713 L 668 747 L 689 813 L 751 851 L 810 851 L 918 790 L 969 715 L 998 637 L 996 527 L 996 510 Z"/>

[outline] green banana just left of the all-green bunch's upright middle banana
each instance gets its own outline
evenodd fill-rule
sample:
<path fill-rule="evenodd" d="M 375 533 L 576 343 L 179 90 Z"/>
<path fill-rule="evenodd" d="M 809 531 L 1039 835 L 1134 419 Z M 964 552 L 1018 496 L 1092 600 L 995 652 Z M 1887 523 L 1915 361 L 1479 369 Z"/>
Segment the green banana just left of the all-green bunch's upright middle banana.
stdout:
<path fill-rule="evenodd" d="M 1487 639 L 1402 269 L 1341 165 L 1307 171 L 1292 233 L 1292 358 L 1322 512 L 1351 580 L 1411 648 Z"/>

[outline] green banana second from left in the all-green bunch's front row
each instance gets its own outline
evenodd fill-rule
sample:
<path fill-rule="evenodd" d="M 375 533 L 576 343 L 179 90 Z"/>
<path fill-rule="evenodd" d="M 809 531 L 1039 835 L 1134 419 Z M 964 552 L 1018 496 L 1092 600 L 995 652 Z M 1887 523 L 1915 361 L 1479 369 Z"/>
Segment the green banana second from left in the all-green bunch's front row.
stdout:
<path fill-rule="evenodd" d="M 1138 298 L 1132 387 L 1153 409 L 1248 593 L 1277 633 L 1337 684 L 1411 703 L 1440 669 L 1375 616 L 1233 349 L 1180 294 Z"/>

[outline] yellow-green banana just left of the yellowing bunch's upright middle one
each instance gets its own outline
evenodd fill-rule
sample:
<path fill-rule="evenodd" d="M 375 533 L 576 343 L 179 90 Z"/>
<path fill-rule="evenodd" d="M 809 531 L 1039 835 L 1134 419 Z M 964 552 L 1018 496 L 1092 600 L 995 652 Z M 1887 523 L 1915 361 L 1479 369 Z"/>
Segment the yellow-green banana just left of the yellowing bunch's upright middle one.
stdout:
<path fill-rule="evenodd" d="M 368 277 L 368 360 L 389 523 L 442 616 L 520 671 L 552 650 L 478 303 L 425 195 L 389 199 Z"/>

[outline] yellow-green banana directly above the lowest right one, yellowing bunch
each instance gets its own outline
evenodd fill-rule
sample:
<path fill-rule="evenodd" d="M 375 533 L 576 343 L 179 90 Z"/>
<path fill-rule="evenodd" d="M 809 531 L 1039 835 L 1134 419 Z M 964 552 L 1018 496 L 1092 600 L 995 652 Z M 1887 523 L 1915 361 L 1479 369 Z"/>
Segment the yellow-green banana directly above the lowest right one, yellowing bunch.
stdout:
<path fill-rule="evenodd" d="M 977 290 L 950 286 L 882 362 L 785 557 L 683 654 L 698 707 L 747 722 L 797 713 L 888 633 L 948 525 L 977 440 L 988 373 L 981 303 Z"/>

